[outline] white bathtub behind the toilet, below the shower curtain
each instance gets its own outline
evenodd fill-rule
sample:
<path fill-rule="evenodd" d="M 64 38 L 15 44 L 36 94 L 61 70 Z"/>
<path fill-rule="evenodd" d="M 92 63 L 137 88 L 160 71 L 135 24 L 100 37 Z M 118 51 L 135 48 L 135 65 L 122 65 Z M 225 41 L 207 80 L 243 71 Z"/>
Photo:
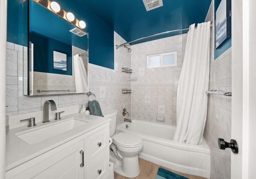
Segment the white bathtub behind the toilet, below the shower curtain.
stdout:
<path fill-rule="evenodd" d="M 206 142 L 189 145 L 173 141 L 175 129 L 176 126 L 132 120 L 131 123 L 124 122 L 117 126 L 116 132 L 134 133 L 142 138 L 140 158 L 181 173 L 209 179 L 210 149 Z"/>

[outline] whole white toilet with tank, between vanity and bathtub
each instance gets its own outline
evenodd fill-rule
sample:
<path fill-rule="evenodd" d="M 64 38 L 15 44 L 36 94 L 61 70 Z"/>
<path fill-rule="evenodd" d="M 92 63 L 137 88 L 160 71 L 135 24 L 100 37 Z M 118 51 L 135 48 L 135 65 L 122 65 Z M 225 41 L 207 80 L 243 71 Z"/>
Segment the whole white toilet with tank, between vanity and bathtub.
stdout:
<path fill-rule="evenodd" d="M 102 113 L 104 117 L 111 118 L 110 161 L 114 163 L 114 171 L 124 177 L 137 177 L 140 174 L 138 154 L 143 147 L 142 138 L 126 132 L 115 134 L 117 110 L 111 109 Z"/>

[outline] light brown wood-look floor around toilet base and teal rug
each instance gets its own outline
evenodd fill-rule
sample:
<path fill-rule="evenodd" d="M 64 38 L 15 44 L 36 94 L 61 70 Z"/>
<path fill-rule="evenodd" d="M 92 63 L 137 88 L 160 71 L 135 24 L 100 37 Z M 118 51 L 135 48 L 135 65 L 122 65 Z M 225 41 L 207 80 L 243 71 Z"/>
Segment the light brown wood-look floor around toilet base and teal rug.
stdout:
<path fill-rule="evenodd" d="M 160 165 L 157 165 L 155 163 L 152 163 L 150 161 L 146 161 L 146 160 L 143 160 L 140 158 L 139 158 L 139 163 L 140 163 L 140 175 L 138 177 L 135 177 L 134 179 L 155 179 L 156 173 L 158 171 L 158 167 L 162 167 Z M 187 177 L 189 179 L 206 179 L 204 177 L 198 177 L 198 176 L 194 176 L 194 175 L 180 173 L 178 171 L 174 171 L 174 170 L 168 169 L 166 167 L 162 167 L 162 168 L 172 171 L 174 173 L 177 173 L 179 175 L 182 175 L 184 177 Z M 130 179 L 130 178 L 126 178 L 121 175 L 118 175 L 117 173 L 114 173 L 114 179 Z"/>

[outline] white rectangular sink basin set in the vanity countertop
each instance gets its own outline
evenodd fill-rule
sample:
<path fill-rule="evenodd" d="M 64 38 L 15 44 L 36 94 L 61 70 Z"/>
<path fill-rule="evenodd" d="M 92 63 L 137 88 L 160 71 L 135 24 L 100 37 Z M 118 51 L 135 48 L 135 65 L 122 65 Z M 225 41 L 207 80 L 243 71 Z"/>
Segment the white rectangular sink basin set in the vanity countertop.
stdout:
<path fill-rule="evenodd" d="M 72 130 L 84 124 L 88 124 L 86 121 L 71 118 L 65 121 L 54 122 L 54 124 L 48 124 L 46 126 L 39 127 L 35 130 L 28 132 L 19 132 L 16 134 L 19 138 L 27 142 L 28 144 L 36 144 L 68 130 Z"/>

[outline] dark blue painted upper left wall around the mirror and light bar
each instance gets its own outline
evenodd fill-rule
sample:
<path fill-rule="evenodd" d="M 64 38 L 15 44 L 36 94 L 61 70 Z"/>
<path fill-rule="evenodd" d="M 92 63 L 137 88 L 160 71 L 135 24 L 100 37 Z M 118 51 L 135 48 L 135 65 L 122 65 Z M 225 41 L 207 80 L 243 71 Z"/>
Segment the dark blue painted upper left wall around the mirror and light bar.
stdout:
<path fill-rule="evenodd" d="M 72 12 L 78 20 L 86 22 L 84 30 L 89 33 L 89 63 L 114 69 L 114 30 L 76 0 L 55 1 L 65 11 Z M 7 41 L 23 44 L 22 3 L 20 0 L 8 0 Z"/>

